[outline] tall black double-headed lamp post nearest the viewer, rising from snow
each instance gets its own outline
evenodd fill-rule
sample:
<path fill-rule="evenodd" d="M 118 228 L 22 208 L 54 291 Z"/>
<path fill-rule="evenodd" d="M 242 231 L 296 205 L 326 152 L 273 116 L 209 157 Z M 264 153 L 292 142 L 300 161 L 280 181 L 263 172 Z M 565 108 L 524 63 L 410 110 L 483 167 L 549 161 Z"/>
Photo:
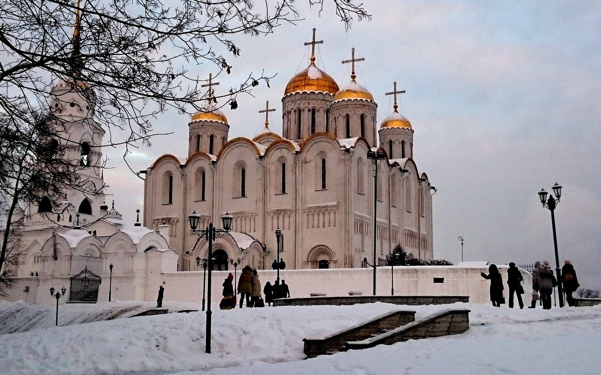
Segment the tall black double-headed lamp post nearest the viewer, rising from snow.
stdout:
<path fill-rule="evenodd" d="M 196 213 L 196 211 L 192 212 L 192 214 L 188 217 L 190 221 L 190 230 L 192 233 L 198 236 L 198 241 L 201 238 L 206 239 L 209 242 L 209 256 L 207 257 L 207 267 L 209 268 L 209 285 L 207 286 L 207 328 L 206 328 L 206 344 L 205 344 L 205 352 L 211 352 L 211 271 L 213 269 L 213 241 L 215 239 L 228 235 L 231 229 L 231 221 L 234 220 L 234 217 L 230 215 L 229 212 L 225 212 L 225 215 L 221 217 L 221 221 L 223 223 L 223 229 L 217 229 L 213 226 L 213 223 L 209 223 L 209 226 L 206 229 L 199 229 L 198 221 L 200 220 L 200 215 Z M 196 248 L 196 244 L 194 245 Z"/>

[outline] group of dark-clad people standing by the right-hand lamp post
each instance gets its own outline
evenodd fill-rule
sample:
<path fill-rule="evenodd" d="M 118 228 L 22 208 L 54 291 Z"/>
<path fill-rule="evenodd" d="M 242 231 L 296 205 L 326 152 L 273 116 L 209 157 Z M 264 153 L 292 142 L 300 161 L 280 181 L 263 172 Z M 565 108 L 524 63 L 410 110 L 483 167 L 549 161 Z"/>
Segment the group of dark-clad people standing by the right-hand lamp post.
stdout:
<path fill-rule="evenodd" d="M 483 278 L 490 280 L 490 301 L 495 307 L 501 307 L 501 304 L 505 303 L 505 297 L 503 295 L 503 279 L 496 265 L 491 264 L 489 266 L 489 274 L 481 272 Z M 509 287 L 509 307 L 513 308 L 513 296 L 517 296 L 517 302 L 520 308 L 524 307 L 522 301 L 522 294 L 524 292 L 522 286 L 523 277 L 519 269 L 516 267 L 516 263 L 509 263 L 507 269 L 507 286 Z M 576 277 L 576 271 L 574 266 L 569 260 L 566 260 L 563 268 L 561 268 L 561 283 L 563 286 L 563 292 L 566 293 L 566 301 L 568 306 L 574 306 L 574 298 L 572 293 L 578 289 L 578 278 Z M 543 262 L 534 263 L 534 269 L 532 270 L 532 302 L 528 308 L 536 308 L 536 301 L 538 301 L 539 295 L 544 310 L 551 309 L 551 293 L 553 288 L 557 286 L 557 278 L 553 274 L 551 265 L 548 260 Z"/>

